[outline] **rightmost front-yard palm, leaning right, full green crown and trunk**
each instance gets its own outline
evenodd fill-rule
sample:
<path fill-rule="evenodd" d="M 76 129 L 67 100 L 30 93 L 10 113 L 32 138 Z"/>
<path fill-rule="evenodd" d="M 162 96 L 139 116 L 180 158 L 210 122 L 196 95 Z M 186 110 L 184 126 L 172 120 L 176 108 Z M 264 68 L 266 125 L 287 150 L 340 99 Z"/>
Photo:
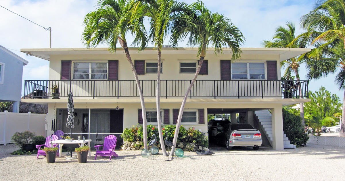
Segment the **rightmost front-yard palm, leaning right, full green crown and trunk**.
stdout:
<path fill-rule="evenodd" d="M 177 47 L 177 43 L 188 37 L 189 46 L 197 46 L 197 56 L 200 57 L 199 65 L 189 84 L 188 90 L 183 98 L 177 118 L 173 144 L 176 145 L 181 119 L 188 94 L 198 77 L 200 68 L 203 65 L 208 46 L 214 48 L 214 54 L 223 53 L 223 48 L 229 47 L 233 51 L 232 59 L 236 60 L 241 56 L 240 46 L 245 38 L 239 29 L 231 21 L 218 13 L 212 13 L 204 6 L 204 3 L 197 1 L 190 6 L 191 11 L 176 17 L 171 28 L 171 43 Z M 173 150 L 175 148 L 172 148 Z"/>

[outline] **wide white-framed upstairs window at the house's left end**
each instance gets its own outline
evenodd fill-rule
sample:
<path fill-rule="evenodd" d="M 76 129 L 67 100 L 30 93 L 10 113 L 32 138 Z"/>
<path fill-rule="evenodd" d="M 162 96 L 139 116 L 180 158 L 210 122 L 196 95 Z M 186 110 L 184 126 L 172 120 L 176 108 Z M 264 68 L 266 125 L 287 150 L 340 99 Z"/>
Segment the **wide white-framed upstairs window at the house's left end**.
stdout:
<path fill-rule="evenodd" d="M 106 62 L 73 62 L 73 79 L 107 79 Z"/>

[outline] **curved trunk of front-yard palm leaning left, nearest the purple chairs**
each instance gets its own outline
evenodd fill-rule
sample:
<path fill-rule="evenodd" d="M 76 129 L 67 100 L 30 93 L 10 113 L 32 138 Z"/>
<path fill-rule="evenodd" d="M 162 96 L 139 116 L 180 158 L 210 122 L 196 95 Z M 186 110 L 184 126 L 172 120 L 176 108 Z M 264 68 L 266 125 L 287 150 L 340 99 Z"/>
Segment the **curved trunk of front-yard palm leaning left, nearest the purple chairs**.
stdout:
<path fill-rule="evenodd" d="M 146 123 L 146 108 L 145 108 L 145 101 L 144 101 L 144 96 L 142 95 L 142 89 L 140 86 L 139 78 L 137 75 L 137 71 L 135 70 L 132 58 L 130 57 L 127 43 L 122 40 L 120 37 L 118 37 L 119 43 L 121 44 L 122 48 L 124 48 L 125 53 L 126 53 L 126 58 L 130 64 L 130 67 L 132 68 L 132 72 L 134 74 L 135 82 L 137 84 L 138 92 L 139 92 L 139 97 L 140 97 L 140 104 L 141 104 L 141 113 L 142 113 L 142 127 L 143 127 L 143 141 L 144 141 L 144 148 L 147 149 L 147 123 Z"/>

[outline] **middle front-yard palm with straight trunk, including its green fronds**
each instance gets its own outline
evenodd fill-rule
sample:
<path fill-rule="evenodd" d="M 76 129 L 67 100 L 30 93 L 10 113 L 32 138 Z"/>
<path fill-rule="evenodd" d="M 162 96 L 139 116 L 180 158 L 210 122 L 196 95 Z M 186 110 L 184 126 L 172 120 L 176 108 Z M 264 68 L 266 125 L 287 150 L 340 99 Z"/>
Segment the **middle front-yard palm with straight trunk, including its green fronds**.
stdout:
<path fill-rule="evenodd" d="M 167 156 L 164 139 L 161 130 L 161 114 L 160 114 L 160 69 L 161 69 L 161 50 L 165 38 L 168 35 L 171 21 L 174 17 L 185 10 L 185 3 L 177 3 L 175 0 L 138 0 L 136 10 L 140 10 L 135 14 L 150 19 L 150 35 L 149 38 L 155 43 L 157 47 L 157 87 L 156 87 L 156 105 L 157 105 L 157 127 L 159 134 L 159 142 L 162 148 L 163 155 Z"/>

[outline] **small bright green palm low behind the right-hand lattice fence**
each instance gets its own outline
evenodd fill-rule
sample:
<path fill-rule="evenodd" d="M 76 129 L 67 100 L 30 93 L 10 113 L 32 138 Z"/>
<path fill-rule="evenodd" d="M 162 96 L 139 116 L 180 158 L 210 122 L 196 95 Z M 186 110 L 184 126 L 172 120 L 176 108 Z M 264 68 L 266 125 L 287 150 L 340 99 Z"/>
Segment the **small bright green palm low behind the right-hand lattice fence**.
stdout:
<path fill-rule="evenodd" d="M 334 118 L 326 117 L 322 119 L 321 115 L 317 113 L 315 114 L 306 113 L 305 118 L 307 120 L 306 122 L 308 123 L 310 127 L 313 128 L 313 130 L 317 129 L 318 136 L 320 135 L 320 130 L 322 126 L 335 122 Z M 313 135 L 315 135 L 315 132 L 313 132 Z"/>

